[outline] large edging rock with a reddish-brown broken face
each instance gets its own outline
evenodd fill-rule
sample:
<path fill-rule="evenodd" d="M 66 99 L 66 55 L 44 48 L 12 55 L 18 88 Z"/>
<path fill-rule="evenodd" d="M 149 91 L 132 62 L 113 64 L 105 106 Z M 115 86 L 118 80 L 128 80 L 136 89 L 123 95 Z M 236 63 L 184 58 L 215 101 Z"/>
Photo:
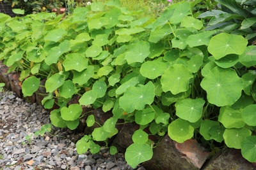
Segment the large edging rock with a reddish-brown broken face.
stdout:
<path fill-rule="evenodd" d="M 147 170 L 200 169 L 208 155 L 209 152 L 200 146 L 195 139 L 189 139 L 184 143 L 177 143 L 166 134 L 154 149 L 152 159 L 144 162 L 142 165 Z M 164 164 L 159 164 L 159 162 L 164 162 Z"/>

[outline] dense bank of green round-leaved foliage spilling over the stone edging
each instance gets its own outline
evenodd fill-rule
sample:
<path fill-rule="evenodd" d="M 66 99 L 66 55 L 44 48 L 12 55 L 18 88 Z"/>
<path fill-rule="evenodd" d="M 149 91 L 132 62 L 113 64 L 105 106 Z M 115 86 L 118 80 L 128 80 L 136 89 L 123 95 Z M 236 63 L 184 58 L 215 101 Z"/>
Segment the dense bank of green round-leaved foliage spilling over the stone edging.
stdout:
<path fill-rule="evenodd" d="M 115 136 L 123 120 L 140 125 L 125 152 L 132 167 L 151 159 L 156 143 L 148 136 L 164 134 L 179 143 L 195 138 L 212 152 L 241 149 L 256 162 L 256 2 L 218 0 L 220 9 L 199 15 L 192 9 L 201 3 L 172 4 L 157 18 L 135 18 L 116 0 L 65 18 L 1 13 L 0 60 L 20 71 L 24 96 L 46 80 L 42 104 L 60 107 L 51 111 L 56 127 L 76 129 L 82 106 L 113 113 L 77 141 L 78 153 L 99 152 L 96 141 Z M 79 103 L 68 105 L 74 96 Z M 97 124 L 93 115 L 86 124 Z"/>

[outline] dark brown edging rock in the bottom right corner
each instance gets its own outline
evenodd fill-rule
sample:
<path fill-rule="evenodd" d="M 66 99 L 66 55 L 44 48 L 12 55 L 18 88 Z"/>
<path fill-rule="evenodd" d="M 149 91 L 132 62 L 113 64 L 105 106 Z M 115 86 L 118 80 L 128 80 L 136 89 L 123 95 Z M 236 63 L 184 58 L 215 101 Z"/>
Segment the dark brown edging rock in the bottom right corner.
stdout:
<path fill-rule="evenodd" d="M 221 152 L 214 155 L 202 170 L 214 169 L 234 169 L 234 170 L 253 170 L 256 169 L 252 163 L 248 162 L 241 155 L 241 150 L 225 148 Z"/>

